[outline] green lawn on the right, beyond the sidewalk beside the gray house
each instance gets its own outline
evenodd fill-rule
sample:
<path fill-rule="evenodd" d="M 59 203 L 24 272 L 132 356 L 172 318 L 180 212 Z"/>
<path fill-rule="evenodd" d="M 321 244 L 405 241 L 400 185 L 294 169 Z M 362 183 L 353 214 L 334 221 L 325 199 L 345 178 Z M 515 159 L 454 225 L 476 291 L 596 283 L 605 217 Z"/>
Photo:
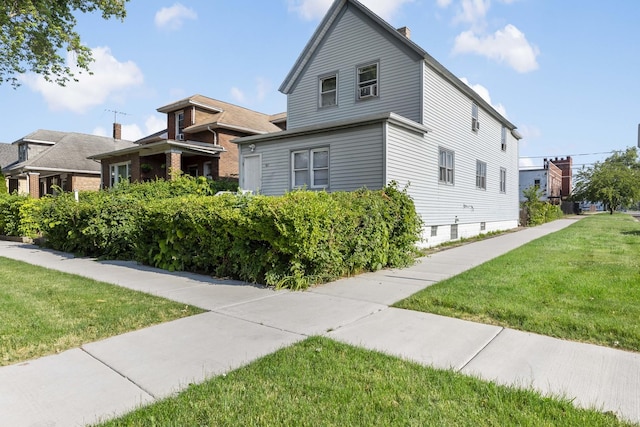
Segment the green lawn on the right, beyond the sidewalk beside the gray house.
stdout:
<path fill-rule="evenodd" d="M 640 351 L 640 223 L 590 216 L 395 306 Z"/>

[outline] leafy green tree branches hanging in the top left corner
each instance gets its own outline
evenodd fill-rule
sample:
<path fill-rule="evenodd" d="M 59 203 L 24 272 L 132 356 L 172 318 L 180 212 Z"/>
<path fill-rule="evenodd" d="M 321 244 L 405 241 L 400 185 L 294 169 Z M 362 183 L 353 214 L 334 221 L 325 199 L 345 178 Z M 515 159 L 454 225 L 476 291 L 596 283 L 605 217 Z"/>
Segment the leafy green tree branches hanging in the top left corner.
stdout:
<path fill-rule="evenodd" d="M 0 84 L 20 85 L 27 71 L 62 86 L 75 76 L 63 49 L 75 53 L 80 72 L 90 72 L 91 49 L 75 32 L 74 13 L 101 11 L 104 19 L 123 20 L 129 0 L 0 0 Z"/>

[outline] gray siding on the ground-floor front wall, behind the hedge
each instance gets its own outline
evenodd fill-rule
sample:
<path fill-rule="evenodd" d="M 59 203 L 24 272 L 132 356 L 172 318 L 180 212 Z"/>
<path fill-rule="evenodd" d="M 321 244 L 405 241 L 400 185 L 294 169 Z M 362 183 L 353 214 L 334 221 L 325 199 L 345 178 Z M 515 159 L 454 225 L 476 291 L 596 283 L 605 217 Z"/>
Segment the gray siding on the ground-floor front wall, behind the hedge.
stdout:
<path fill-rule="evenodd" d="M 381 188 L 384 157 L 382 135 L 382 124 L 373 124 L 256 144 L 254 153 L 262 156 L 260 192 L 280 195 L 291 190 L 291 152 L 323 147 L 329 147 L 327 191 Z M 246 144 L 241 147 L 242 154 L 250 154 Z"/>

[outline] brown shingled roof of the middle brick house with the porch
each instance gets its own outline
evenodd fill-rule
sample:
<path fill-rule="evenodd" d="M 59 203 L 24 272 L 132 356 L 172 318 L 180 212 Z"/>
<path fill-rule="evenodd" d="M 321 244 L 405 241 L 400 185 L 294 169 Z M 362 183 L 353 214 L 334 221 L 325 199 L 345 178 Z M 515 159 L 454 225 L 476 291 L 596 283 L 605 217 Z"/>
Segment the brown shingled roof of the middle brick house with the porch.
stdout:
<path fill-rule="evenodd" d="M 186 127 L 185 132 L 195 133 L 205 131 L 208 128 L 224 128 L 248 134 L 265 134 L 281 130 L 271 122 L 272 116 L 269 114 L 197 94 L 160 107 L 157 111 L 171 113 L 187 107 L 203 108 L 209 110 L 213 115 L 206 123 L 197 123 Z"/>

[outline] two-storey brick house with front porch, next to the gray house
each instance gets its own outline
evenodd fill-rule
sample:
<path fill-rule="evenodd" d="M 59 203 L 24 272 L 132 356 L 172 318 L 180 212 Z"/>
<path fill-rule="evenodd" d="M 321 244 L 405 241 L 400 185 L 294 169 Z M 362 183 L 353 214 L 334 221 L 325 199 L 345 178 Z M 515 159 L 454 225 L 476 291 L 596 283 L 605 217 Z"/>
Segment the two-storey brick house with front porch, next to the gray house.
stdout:
<path fill-rule="evenodd" d="M 142 138 L 136 147 L 92 158 L 102 163 L 102 186 L 119 179 L 171 179 L 173 171 L 212 179 L 238 179 L 238 147 L 230 141 L 286 128 L 286 114 L 268 115 L 202 95 L 158 108 L 167 129 Z"/>

